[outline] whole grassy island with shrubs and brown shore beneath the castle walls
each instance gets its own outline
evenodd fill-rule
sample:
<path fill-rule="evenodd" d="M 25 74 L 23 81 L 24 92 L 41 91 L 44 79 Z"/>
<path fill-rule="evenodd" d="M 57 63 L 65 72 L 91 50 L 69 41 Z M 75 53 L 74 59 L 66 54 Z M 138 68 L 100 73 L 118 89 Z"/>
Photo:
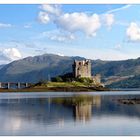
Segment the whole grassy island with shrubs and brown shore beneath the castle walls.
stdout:
<path fill-rule="evenodd" d="M 0 92 L 80 92 L 80 91 L 108 91 L 109 89 L 103 87 L 101 84 L 95 84 L 89 78 L 79 78 L 75 81 L 63 81 L 60 78 L 53 82 L 40 81 L 23 89 L 0 89 Z"/>

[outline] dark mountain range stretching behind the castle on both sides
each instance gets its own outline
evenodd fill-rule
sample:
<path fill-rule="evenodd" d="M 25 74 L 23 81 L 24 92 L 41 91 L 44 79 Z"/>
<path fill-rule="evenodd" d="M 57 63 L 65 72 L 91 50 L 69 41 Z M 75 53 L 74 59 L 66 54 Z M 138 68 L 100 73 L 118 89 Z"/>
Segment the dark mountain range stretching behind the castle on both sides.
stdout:
<path fill-rule="evenodd" d="M 50 77 L 62 75 L 72 71 L 74 60 L 83 60 L 83 57 L 68 57 L 55 54 L 44 54 L 27 57 L 14 61 L 0 68 L 0 81 L 2 82 L 38 82 Z M 91 60 L 92 75 L 100 73 L 102 80 L 107 82 L 110 77 L 116 77 L 117 82 L 140 75 L 140 58 L 123 61 Z M 118 80 L 119 79 L 119 80 Z M 116 82 L 112 80 L 110 85 Z"/>

